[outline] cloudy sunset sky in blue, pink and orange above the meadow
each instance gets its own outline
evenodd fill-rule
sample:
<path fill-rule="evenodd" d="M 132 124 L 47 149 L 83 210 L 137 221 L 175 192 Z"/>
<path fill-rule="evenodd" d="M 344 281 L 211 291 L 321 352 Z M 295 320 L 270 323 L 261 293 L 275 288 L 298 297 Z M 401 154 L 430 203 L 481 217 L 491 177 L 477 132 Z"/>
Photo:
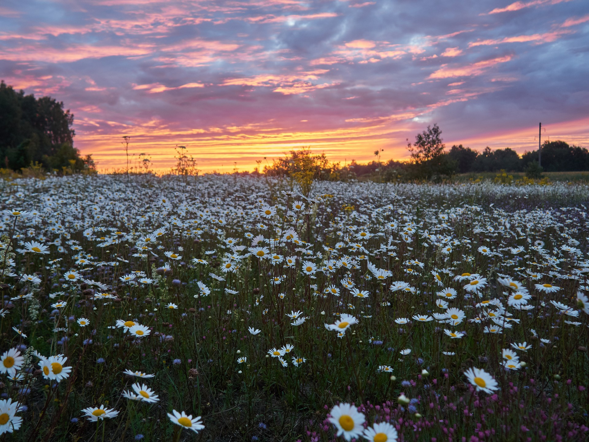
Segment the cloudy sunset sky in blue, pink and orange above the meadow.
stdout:
<path fill-rule="evenodd" d="M 186 146 L 203 171 L 310 146 L 589 147 L 587 0 L 2 0 L 0 79 L 75 116 L 100 170 Z"/>

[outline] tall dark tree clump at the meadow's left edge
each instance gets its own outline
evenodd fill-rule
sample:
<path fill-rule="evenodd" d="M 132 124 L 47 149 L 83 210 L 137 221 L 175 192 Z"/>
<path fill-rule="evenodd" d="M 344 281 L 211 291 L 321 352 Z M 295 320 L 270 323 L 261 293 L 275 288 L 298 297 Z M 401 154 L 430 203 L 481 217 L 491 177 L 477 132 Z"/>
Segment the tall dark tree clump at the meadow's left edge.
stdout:
<path fill-rule="evenodd" d="M 92 157 L 74 147 L 74 115 L 51 97 L 35 98 L 0 81 L 0 167 L 19 171 L 94 169 Z"/>

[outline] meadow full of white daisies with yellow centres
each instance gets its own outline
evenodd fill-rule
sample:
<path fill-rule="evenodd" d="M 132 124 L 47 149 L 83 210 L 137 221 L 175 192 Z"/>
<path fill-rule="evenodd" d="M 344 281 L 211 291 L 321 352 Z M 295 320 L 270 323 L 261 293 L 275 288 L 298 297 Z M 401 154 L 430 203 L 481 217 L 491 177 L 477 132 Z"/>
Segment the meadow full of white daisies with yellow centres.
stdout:
<path fill-rule="evenodd" d="M 0 189 L 2 441 L 589 437 L 587 184 Z"/>

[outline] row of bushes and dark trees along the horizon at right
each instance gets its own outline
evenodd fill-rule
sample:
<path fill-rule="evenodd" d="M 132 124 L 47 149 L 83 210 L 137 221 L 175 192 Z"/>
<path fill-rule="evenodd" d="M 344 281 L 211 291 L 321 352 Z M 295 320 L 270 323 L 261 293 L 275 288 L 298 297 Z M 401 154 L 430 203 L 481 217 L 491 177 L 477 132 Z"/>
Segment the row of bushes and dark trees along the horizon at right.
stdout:
<path fill-rule="evenodd" d="M 264 167 L 270 176 L 290 177 L 303 188 L 313 180 L 346 180 L 369 177 L 383 182 L 444 180 L 460 173 L 525 172 L 529 178 L 539 179 L 542 172 L 589 170 L 589 151 L 584 147 L 570 146 L 565 141 L 545 141 L 541 147 L 542 167 L 538 164 L 538 150 L 519 156 L 515 150 L 486 147 L 478 152 L 462 144 L 446 149 L 438 124 L 428 126 L 417 134 L 413 143 L 407 140 L 410 161 L 381 161 L 382 150 L 376 150 L 375 161 L 366 164 L 351 163 L 342 166 L 331 163 L 325 153 L 313 154 L 309 147 L 292 150 L 285 157 L 274 159 Z M 261 163 L 261 161 L 259 162 Z M 254 173 L 259 173 L 256 168 Z"/>

